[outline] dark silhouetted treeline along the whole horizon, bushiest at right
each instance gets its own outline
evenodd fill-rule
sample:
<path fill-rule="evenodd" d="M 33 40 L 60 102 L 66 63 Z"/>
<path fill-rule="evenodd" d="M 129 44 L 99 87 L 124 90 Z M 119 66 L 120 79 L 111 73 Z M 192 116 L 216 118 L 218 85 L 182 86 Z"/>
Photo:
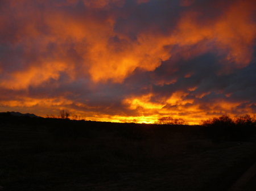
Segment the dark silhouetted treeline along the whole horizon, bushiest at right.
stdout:
<path fill-rule="evenodd" d="M 62 115 L 61 115 L 62 114 Z M 69 120 L 66 112 L 60 117 L 13 116 L 10 112 L 0 113 L 0 127 L 25 128 L 30 130 L 47 130 L 55 138 L 90 137 L 93 130 L 122 131 L 123 137 L 141 139 L 147 131 L 180 131 L 187 133 L 202 132 L 205 138 L 213 142 L 246 141 L 256 135 L 256 117 L 245 115 L 240 117 L 220 116 L 201 121 L 198 126 L 185 125 L 182 118 L 160 117 L 156 124 L 136 124 L 97 122 L 85 120 Z M 144 133 L 142 133 L 144 132 Z"/>

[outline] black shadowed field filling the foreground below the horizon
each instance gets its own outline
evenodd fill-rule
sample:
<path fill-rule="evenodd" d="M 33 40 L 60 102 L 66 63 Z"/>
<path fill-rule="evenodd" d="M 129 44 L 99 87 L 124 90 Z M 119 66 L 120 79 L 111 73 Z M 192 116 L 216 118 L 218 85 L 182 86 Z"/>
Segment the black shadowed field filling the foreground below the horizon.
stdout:
<path fill-rule="evenodd" d="M 185 125 L 5 121 L 0 146 L 3 190 L 228 190 L 256 162 L 253 140 Z"/>

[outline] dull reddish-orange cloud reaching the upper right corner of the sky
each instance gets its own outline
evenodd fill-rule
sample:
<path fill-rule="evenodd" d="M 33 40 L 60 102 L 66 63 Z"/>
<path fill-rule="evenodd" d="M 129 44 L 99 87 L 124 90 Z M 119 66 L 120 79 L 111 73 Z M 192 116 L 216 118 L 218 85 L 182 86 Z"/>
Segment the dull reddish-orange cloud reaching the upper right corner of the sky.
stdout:
<path fill-rule="evenodd" d="M 207 52 L 215 44 L 220 54 L 222 50 L 228 52 L 227 61 L 234 61 L 237 67 L 245 67 L 251 61 L 253 54 L 256 25 L 252 22 L 251 16 L 255 6 L 254 1 L 237 1 L 220 18 L 208 21 L 209 23 L 198 22 L 200 12 L 185 12 L 172 39 L 181 47 L 196 45 L 201 41 L 209 42 L 184 52 L 184 57 L 189 58 Z"/>

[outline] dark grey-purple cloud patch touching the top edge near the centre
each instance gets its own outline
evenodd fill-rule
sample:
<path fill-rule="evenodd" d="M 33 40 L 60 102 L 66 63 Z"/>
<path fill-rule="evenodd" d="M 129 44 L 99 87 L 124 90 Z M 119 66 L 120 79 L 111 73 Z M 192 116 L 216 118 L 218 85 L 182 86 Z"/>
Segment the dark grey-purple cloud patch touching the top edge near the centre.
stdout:
<path fill-rule="evenodd" d="M 168 35 L 180 17 L 180 10 L 179 1 L 150 1 L 139 6 L 135 1 L 126 1 L 114 29 L 133 40 L 142 32 Z"/>

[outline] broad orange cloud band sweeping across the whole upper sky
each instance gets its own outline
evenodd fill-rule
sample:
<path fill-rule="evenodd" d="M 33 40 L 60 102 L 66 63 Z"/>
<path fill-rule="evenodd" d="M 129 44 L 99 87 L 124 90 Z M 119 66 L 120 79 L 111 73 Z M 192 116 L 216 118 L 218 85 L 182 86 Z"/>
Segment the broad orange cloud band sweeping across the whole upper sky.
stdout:
<path fill-rule="evenodd" d="M 11 6 L 15 7 L 14 10 L 19 6 L 22 7 L 21 9 L 26 9 L 24 2 L 27 1 L 19 3 L 11 1 Z M 65 2 L 68 3 L 67 5 L 77 3 L 77 1 Z M 97 8 L 117 2 L 121 1 L 84 1 L 86 6 Z M 43 4 L 47 6 L 47 3 L 49 2 L 46 1 Z M 190 5 L 190 3 L 192 1 L 183 1 L 184 5 Z M 85 19 L 77 20 L 76 16 L 67 16 L 64 12 L 56 12 L 53 7 L 50 7 L 46 13 L 39 14 L 30 8 L 26 11 L 27 14 L 21 15 L 24 11 L 18 11 L 14 17 L 16 16 L 17 19 L 21 17 L 24 20 L 29 18 L 29 22 L 25 23 L 20 28 L 21 31 L 16 34 L 20 39 L 19 43 L 24 44 L 28 51 L 34 48 L 35 41 L 40 46 L 38 51 L 42 53 L 46 52 L 50 43 L 54 43 L 59 46 L 59 49 L 55 49 L 53 54 L 56 60 L 59 60 L 69 51 L 65 43 L 71 40 L 74 43 L 73 48 L 84 58 L 82 63 L 86 66 L 84 72 L 89 71 L 94 82 L 106 82 L 111 79 L 113 82 L 121 83 L 137 68 L 152 71 L 160 66 L 162 61 L 168 60 L 172 52 L 166 49 L 166 46 L 179 45 L 183 50 L 181 55 L 184 58 L 190 58 L 207 52 L 216 45 L 220 51 L 229 52 L 226 60 L 234 61 L 238 67 L 248 65 L 251 61 L 253 53 L 251 47 L 256 34 L 255 23 L 250 21 L 254 4 L 252 1 L 237 1 L 220 18 L 210 23 L 198 22 L 200 12 L 187 11 L 181 15 L 174 32 L 167 36 L 150 31 L 142 32 L 138 34 L 137 41 L 131 41 L 114 31 L 115 18 L 111 14 L 106 18 L 97 19 L 89 13 L 85 15 Z M 35 18 L 31 18 L 31 14 L 35 14 Z M 45 28 L 48 29 L 47 35 L 42 35 L 42 31 L 38 29 L 39 16 L 43 16 Z M 121 43 L 109 44 L 109 39 L 114 37 Z M 39 41 L 39 39 L 42 40 Z M 81 44 L 81 41 L 84 44 Z M 194 46 L 203 41 L 205 43 L 200 46 Z"/>

